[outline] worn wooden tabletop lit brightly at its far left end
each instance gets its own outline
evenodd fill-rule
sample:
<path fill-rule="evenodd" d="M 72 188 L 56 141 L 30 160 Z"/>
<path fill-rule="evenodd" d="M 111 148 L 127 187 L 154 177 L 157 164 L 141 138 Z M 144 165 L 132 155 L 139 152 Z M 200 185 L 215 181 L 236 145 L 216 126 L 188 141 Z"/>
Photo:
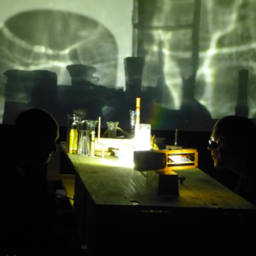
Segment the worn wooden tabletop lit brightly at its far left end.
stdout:
<path fill-rule="evenodd" d="M 178 177 L 185 177 L 178 196 L 157 195 L 148 188 L 145 173 L 116 159 L 67 155 L 96 205 L 131 206 L 137 201 L 143 207 L 256 209 L 200 169 L 177 171 Z"/>

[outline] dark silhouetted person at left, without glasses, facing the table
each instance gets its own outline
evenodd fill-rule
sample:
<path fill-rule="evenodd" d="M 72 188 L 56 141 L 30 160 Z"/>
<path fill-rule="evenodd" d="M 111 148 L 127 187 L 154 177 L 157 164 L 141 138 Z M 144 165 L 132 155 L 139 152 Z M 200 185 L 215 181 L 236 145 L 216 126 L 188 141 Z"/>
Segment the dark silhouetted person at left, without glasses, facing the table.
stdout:
<path fill-rule="evenodd" d="M 0 232 L 4 237 L 1 248 L 7 253 L 49 253 L 54 209 L 47 194 L 44 164 L 56 151 L 58 137 L 55 119 L 32 108 L 18 115 L 13 137 L 2 142 Z"/>

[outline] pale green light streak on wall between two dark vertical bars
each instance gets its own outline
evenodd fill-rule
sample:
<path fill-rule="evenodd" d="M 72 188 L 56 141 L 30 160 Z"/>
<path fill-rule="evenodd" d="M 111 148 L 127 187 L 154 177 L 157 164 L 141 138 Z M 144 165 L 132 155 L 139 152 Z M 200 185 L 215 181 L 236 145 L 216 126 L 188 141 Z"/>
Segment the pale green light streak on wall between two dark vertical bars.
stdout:
<path fill-rule="evenodd" d="M 188 49 L 189 44 L 184 42 L 187 38 L 189 40 L 189 33 L 187 34 L 186 31 L 191 32 L 191 30 L 185 28 L 185 30 L 166 31 L 166 29 L 160 29 L 160 26 L 171 25 L 175 27 L 176 25 L 191 23 L 192 12 L 188 14 L 188 10 L 189 7 L 193 8 L 193 6 L 194 1 L 166 1 L 165 4 L 157 2 L 154 6 L 154 17 L 152 17 L 152 20 L 149 22 L 150 24 L 148 24 L 149 26 L 159 26 L 159 29 L 154 29 L 150 35 L 152 38 L 149 41 L 145 41 L 148 61 L 146 61 L 143 71 L 145 74 L 143 84 L 157 86 L 161 74 L 156 73 L 156 70 L 159 64 L 163 66 L 161 102 L 158 103 L 161 108 L 178 110 L 181 107 L 182 76 L 184 73 L 187 73 L 188 68 L 182 67 L 178 61 L 191 57 L 191 51 Z M 184 11 L 183 7 L 185 7 L 186 15 L 177 15 L 177 12 Z M 159 49 L 160 45 L 161 49 Z M 159 63 L 158 60 L 160 51 L 162 63 Z M 185 75 L 184 77 L 187 76 Z"/>

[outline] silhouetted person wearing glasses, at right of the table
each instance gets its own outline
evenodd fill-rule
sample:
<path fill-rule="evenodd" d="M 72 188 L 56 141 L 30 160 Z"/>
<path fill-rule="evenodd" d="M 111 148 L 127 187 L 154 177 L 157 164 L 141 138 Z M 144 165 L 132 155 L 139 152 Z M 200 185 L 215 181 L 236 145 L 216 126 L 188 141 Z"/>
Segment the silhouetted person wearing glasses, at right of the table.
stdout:
<path fill-rule="evenodd" d="M 214 125 L 208 149 L 216 168 L 229 168 L 240 177 L 235 192 L 256 205 L 256 126 L 230 115 Z"/>

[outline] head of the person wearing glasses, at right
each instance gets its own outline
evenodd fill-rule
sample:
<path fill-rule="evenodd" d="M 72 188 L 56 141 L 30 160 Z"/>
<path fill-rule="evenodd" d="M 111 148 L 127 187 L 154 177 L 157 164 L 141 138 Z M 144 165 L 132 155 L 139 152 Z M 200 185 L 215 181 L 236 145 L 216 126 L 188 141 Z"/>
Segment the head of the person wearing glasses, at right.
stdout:
<path fill-rule="evenodd" d="M 252 120 L 230 115 L 214 125 L 211 144 L 212 158 L 216 168 L 235 170 L 241 163 L 253 157 L 256 145 L 256 126 Z"/>

